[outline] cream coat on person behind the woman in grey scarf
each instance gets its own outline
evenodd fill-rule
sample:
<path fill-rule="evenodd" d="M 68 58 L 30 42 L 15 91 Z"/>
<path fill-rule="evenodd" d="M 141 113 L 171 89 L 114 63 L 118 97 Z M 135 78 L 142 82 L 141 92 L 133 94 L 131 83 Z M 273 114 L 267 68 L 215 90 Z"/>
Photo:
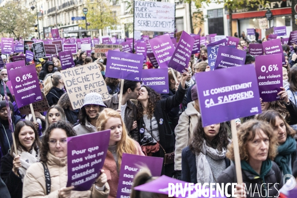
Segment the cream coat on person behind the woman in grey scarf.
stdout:
<path fill-rule="evenodd" d="M 187 109 L 181 114 L 175 127 L 175 158 L 174 170 L 182 170 L 182 149 L 189 145 L 193 130 L 198 123 L 200 113 L 194 108 L 195 102 L 188 103 Z M 190 117 L 190 120 L 189 120 Z"/>

